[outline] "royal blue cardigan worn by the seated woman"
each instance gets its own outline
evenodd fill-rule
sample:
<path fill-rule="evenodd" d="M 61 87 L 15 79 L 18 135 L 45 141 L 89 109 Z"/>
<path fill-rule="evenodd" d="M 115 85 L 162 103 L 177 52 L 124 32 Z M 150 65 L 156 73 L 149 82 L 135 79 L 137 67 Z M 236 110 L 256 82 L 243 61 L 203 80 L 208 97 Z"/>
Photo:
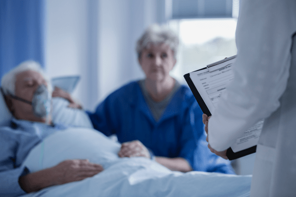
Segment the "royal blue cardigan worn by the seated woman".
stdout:
<path fill-rule="evenodd" d="M 193 170 L 234 174 L 228 160 L 208 149 L 202 111 L 189 88 L 181 85 L 155 121 L 137 81 L 113 92 L 95 112 L 87 112 L 96 130 L 116 134 L 123 143 L 140 140 L 155 156 L 182 157 Z"/>

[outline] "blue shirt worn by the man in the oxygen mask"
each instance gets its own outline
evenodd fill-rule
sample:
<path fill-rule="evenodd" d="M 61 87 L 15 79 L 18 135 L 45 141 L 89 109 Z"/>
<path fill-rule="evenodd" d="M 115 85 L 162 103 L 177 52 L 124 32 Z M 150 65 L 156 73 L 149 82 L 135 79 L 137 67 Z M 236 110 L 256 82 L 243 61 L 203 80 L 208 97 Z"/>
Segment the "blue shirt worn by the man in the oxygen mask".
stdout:
<path fill-rule="evenodd" d="M 26 194 L 18 179 L 30 172 L 21 164 L 33 147 L 61 129 L 66 127 L 16 119 L 11 121 L 10 126 L 0 127 L 0 197 Z"/>

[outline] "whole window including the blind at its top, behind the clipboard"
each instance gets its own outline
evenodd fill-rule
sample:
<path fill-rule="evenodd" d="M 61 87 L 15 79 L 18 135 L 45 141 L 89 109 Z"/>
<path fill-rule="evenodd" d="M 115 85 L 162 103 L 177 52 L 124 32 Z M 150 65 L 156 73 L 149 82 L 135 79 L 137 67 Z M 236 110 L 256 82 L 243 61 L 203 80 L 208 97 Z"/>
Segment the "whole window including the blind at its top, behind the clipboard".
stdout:
<path fill-rule="evenodd" d="M 225 57 L 236 55 L 235 30 L 239 0 L 223 0 L 219 1 L 219 3 L 217 0 L 173 0 L 172 2 L 173 4 L 184 4 L 183 9 L 179 8 L 177 10 L 183 15 L 188 12 L 190 3 L 193 3 L 191 7 L 194 7 L 194 3 L 197 7 L 199 6 L 194 15 L 195 19 L 178 18 L 179 14 L 172 17 L 173 19 L 168 22 L 169 27 L 180 38 L 177 63 L 171 71 L 171 75 L 181 83 L 186 84 L 184 74 L 222 60 Z M 232 3 L 232 6 L 230 3 Z M 230 8 L 232 9 L 232 17 L 229 17 Z M 179 13 L 177 11 L 175 12 Z M 190 9 L 188 13 L 191 13 Z M 213 13 L 220 13 L 221 18 Z"/>

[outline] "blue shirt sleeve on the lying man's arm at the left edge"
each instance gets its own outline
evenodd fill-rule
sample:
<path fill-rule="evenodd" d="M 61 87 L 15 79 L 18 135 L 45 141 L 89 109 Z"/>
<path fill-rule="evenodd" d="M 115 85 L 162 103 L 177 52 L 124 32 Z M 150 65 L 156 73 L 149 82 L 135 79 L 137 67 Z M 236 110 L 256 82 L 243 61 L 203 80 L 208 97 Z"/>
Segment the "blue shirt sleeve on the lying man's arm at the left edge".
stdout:
<path fill-rule="evenodd" d="M 0 196 L 19 196 L 26 194 L 18 183 L 20 176 L 29 173 L 29 170 L 23 167 L 15 167 L 15 144 L 12 140 L 0 135 Z"/>

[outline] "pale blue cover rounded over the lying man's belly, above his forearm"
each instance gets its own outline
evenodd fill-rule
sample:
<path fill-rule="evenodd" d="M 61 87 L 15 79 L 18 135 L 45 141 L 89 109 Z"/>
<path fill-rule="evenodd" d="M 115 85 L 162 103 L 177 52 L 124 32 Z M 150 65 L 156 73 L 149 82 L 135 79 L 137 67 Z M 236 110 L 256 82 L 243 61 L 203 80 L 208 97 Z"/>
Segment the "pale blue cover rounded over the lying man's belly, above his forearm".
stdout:
<path fill-rule="evenodd" d="M 107 168 L 118 160 L 121 145 L 103 133 L 88 128 L 57 131 L 35 146 L 22 164 L 31 172 L 52 167 L 65 160 L 88 159 Z"/>

